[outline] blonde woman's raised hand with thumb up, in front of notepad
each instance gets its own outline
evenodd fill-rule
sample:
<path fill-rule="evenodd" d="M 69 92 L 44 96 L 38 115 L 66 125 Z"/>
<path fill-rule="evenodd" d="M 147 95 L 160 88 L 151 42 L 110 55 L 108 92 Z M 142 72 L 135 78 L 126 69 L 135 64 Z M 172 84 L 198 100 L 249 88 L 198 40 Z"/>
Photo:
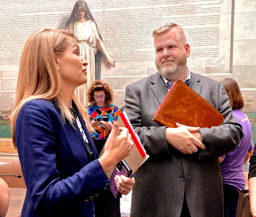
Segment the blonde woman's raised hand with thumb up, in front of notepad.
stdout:
<path fill-rule="evenodd" d="M 117 132 L 121 131 L 121 134 L 117 136 Z M 131 152 L 131 134 L 127 128 L 118 126 L 117 122 L 113 122 L 112 130 L 106 141 L 104 153 L 99 158 L 99 162 L 107 173 L 111 170 L 119 161 L 127 157 Z"/>

